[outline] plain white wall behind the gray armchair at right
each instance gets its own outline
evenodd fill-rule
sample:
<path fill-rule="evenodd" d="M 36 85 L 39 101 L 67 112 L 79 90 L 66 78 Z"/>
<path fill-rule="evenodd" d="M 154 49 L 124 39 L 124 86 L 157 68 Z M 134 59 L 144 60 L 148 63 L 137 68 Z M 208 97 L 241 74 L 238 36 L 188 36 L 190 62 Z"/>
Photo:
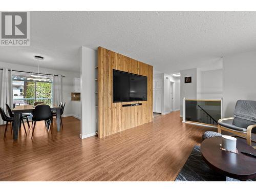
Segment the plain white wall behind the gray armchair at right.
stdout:
<path fill-rule="evenodd" d="M 256 51 L 223 58 L 223 117 L 233 116 L 237 100 L 256 100 Z"/>

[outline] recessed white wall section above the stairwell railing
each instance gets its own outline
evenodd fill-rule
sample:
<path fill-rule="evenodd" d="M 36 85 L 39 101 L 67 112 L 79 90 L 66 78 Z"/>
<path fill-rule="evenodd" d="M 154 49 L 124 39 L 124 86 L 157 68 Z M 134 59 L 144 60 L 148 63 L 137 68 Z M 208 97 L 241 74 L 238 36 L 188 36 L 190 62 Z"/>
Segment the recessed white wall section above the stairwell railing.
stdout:
<path fill-rule="evenodd" d="M 197 71 L 197 99 L 222 98 L 222 69 Z"/>

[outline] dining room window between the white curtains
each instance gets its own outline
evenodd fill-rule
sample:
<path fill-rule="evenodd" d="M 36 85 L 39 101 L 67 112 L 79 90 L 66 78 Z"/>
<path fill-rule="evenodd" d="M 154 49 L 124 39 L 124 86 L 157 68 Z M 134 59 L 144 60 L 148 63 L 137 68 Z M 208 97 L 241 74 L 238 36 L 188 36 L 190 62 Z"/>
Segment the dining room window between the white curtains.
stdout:
<path fill-rule="evenodd" d="M 25 75 L 13 75 L 12 92 L 15 105 L 33 105 L 36 101 L 52 104 L 52 81 L 34 81 Z"/>

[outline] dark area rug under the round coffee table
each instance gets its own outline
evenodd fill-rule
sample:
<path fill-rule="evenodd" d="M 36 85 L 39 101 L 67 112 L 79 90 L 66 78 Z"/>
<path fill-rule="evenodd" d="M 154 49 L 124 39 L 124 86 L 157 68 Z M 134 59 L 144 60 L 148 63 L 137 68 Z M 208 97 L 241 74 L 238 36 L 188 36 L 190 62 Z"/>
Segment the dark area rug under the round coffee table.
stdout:
<path fill-rule="evenodd" d="M 214 172 L 203 160 L 200 146 L 195 145 L 175 181 L 240 181 Z M 256 181 L 250 179 L 247 181 Z"/>

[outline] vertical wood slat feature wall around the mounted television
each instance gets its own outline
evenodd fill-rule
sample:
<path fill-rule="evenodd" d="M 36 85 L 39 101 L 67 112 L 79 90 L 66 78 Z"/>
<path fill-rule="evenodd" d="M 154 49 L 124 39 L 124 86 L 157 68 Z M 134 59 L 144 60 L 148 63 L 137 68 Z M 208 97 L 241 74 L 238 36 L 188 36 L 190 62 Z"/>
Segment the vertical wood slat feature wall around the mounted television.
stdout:
<path fill-rule="evenodd" d="M 113 103 L 113 69 L 147 76 L 147 101 Z M 137 106 L 123 104 L 142 103 Z M 153 121 L 153 67 L 98 48 L 98 137 Z"/>

